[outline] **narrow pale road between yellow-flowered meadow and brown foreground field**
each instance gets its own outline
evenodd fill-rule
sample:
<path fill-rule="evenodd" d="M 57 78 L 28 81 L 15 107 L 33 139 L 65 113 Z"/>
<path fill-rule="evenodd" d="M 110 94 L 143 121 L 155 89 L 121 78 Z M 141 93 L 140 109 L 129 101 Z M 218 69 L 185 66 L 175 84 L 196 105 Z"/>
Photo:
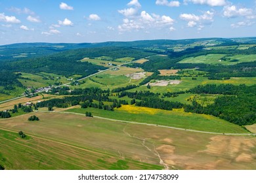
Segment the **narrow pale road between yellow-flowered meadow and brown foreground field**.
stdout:
<path fill-rule="evenodd" d="M 85 114 L 80 114 L 80 113 L 76 113 L 76 112 L 45 111 L 45 110 L 36 110 L 35 112 L 52 112 L 52 113 L 76 114 L 76 115 L 80 115 L 80 116 L 85 116 Z M 123 123 L 127 123 L 127 124 L 158 126 L 158 127 L 169 128 L 169 129 L 178 129 L 178 130 L 182 130 L 182 131 L 192 131 L 192 132 L 196 132 L 196 133 L 207 133 L 207 134 L 213 134 L 213 135 L 239 135 L 239 136 L 240 135 L 256 135 L 256 133 L 216 133 L 216 132 L 211 132 L 211 131 L 199 131 L 199 130 L 194 130 L 194 129 L 184 129 L 184 128 L 180 128 L 180 127 L 170 127 L 170 126 L 165 126 L 165 125 L 143 124 L 143 123 L 139 123 L 139 122 L 129 122 L 129 121 L 125 121 L 125 120 L 115 120 L 115 119 L 111 119 L 111 118 L 103 118 L 100 116 L 93 116 L 93 118 L 99 118 L 102 120 L 110 120 L 113 122 L 123 122 Z"/>

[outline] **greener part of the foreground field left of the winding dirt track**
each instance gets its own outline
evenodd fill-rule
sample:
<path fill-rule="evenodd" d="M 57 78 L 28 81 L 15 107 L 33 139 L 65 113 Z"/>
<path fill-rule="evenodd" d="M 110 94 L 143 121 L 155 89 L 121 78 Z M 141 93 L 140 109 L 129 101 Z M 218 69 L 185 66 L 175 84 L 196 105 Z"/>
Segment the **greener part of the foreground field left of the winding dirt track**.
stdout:
<path fill-rule="evenodd" d="M 1 156 L 6 159 L 1 164 L 7 169 L 162 169 L 154 155 L 141 145 L 134 146 L 139 142 L 123 133 L 124 124 L 40 112 L 35 113 L 39 116 L 38 122 L 28 122 L 31 115 L 0 120 L 0 128 L 11 130 L 0 129 L 0 139 L 4 141 Z M 20 139 L 20 130 L 30 138 Z M 123 139 L 116 141 L 115 137 L 120 135 Z M 119 156 L 118 150 L 123 157 Z M 144 154 L 145 157 L 141 157 L 144 161 L 133 159 L 130 150 Z"/>

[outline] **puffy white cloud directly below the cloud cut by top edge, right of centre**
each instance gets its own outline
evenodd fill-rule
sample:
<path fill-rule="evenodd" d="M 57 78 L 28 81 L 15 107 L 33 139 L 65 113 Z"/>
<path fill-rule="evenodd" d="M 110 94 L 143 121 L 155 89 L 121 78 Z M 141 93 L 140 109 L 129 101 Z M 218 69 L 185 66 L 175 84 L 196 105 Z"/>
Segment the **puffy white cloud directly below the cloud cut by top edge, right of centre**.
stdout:
<path fill-rule="evenodd" d="M 211 24 L 213 22 L 214 13 L 210 12 L 203 12 L 202 15 L 197 16 L 195 14 L 180 14 L 179 18 L 188 22 L 188 27 L 195 27 L 199 24 L 200 29 L 202 29 L 205 24 Z"/>

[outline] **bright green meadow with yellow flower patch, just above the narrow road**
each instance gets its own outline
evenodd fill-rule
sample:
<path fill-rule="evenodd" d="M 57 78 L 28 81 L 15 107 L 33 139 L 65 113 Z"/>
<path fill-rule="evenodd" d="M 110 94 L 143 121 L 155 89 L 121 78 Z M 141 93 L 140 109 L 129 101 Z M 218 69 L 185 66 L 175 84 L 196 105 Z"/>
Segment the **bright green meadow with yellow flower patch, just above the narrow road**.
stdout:
<path fill-rule="evenodd" d="M 245 129 L 238 125 L 231 124 L 214 116 L 205 114 L 194 114 L 179 110 L 160 110 L 155 108 L 135 107 L 133 105 L 123 105 L 121 108 L 110 112 L 98 108 L 72 108 L 68 112 L 85 114 L 85 111 L 92 112 L 95 116 L 111 118 L 115 120 L 125 120 L 140 122 L 145 124 L 167 125 L 170 127 L 180 127 L 184 129 L 194 129 L 200 131 L 211 131 L 218 133 L 247 133 Z"/>

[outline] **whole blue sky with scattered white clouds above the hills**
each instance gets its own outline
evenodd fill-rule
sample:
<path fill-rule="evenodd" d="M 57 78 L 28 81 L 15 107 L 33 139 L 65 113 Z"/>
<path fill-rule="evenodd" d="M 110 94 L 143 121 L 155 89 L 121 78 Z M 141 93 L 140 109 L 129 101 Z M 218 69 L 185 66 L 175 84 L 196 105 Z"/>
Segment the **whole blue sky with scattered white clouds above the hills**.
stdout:
<path fill-rule="evenodd" d="M 0 0 L 0 45 L 256 37 L 256 0 Z"/>

